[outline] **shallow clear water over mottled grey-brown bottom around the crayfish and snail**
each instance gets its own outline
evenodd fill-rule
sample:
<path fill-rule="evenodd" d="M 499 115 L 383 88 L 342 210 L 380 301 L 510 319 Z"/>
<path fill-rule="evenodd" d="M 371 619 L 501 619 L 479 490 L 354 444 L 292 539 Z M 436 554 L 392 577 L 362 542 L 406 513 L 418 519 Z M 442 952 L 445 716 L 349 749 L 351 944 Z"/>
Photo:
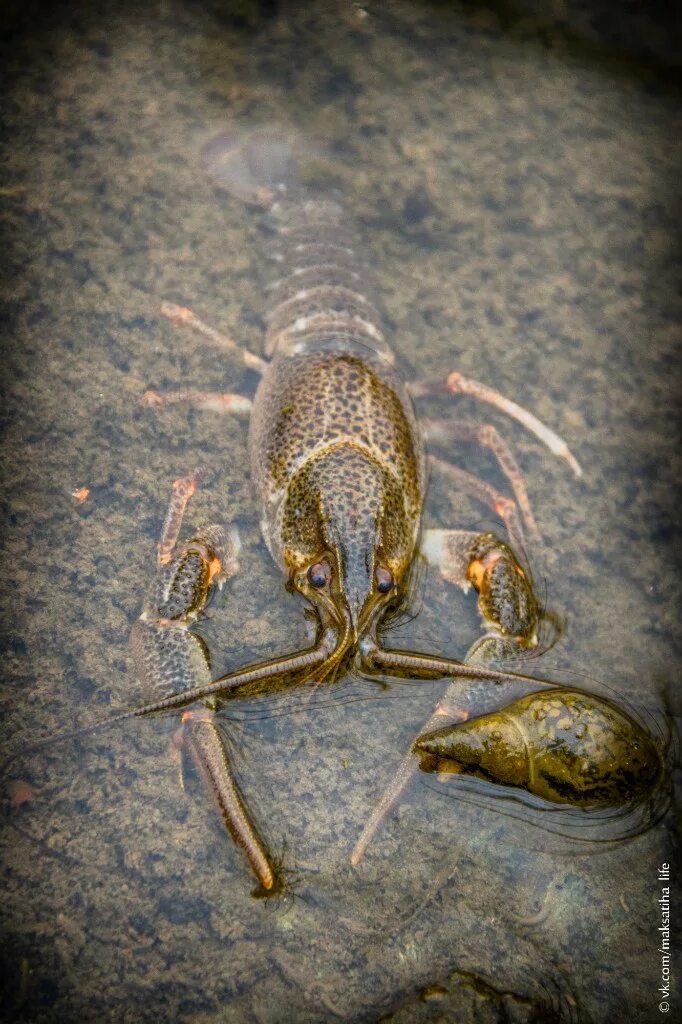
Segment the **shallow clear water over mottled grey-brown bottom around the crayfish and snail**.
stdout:
<path fill-rule="evenodd" d="M 663 30 L 569 14 L 164 2 L 9 17 L 7 753 L 144 700 L 127 638 L 170 482 L 199 462 L 214 475 L 190 521 L 237 520 L 244 542 L 202 627 L 216 675 L 306 640 L 259 541 L 244 424 L 137 409 L 150 385 L 253 391 L 159 315 L 191 305 L 262 350 L 270 236 L 200 158 L 235 123 L 334 146 L 406 373 L 484 380 L 581 460 L 577 482 L 459 400 L 513 440 L 545 540 L 530 558 L 565 630 L 531 671 L 610 688 L 654 723 L 679 714 L 678 97 Z M 426 524 L 495 522 L 434 479 Z M 473 603 L 430 574 L 394 636 L 461 656 L 477 631 Z M 250 896 L 201 786 L 180 788 L 177 719 L 17 762 L 11 779 L 37 792 L 22 803 L 4 783 L 19 805 L 1 840 L 4 1019 L 657 1020 L 672 813 L 587 842 L 587 818 L 557 836 L 424 775 L 351 868 L 444 688 L 349 679 L 230 708 L 244 791 L 292 872 L 280 902 Z"/>

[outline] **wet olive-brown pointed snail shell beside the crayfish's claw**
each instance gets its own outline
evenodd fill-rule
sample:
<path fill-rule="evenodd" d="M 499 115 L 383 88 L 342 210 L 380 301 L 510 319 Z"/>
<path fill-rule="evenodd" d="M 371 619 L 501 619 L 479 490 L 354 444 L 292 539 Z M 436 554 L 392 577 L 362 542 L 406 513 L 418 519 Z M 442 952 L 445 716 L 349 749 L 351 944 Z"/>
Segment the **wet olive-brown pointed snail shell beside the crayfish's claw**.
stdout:
<path fill-rule="evenodd" d="M 653 738 L 610 701 L 571 689 L 531 693 L 502 711 L 426 733 L 423 767 L 519 786 L 555 804 L 621 807 L 648 796 L 663 772 Z M 445 764 L 446 767 L 446 764 Z"/>

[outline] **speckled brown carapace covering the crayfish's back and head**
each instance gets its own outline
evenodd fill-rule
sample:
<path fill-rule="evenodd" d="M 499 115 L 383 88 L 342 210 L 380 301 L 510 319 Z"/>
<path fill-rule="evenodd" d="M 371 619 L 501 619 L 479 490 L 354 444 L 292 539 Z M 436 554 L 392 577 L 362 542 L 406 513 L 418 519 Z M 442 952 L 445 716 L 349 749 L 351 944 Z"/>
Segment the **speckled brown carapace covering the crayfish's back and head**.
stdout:
<path fill-rule="evenodd" d="M 403 386 L 381 357 L 275 357 L 254 403 L 250 452 L 263 535 L 288 570 L 325 550 L 334 523 L 383 522 L 387 563 L 412 559 L 424 472 Z"/>

